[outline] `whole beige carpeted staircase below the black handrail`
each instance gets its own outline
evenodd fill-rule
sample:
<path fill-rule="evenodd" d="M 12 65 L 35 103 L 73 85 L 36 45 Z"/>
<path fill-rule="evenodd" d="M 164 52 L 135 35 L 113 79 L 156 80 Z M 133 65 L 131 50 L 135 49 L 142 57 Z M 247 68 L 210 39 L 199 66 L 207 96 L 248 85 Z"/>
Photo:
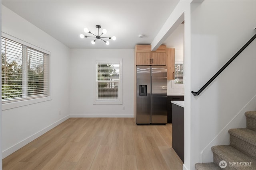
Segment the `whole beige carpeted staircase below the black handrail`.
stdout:
<path fill-rule="evenodd" d="M 213 162 L 196 170 L 256 170 L 256 111 L 247 111 L 246 128 L 230 129 L 230 145 L 213 146 Z"/>

